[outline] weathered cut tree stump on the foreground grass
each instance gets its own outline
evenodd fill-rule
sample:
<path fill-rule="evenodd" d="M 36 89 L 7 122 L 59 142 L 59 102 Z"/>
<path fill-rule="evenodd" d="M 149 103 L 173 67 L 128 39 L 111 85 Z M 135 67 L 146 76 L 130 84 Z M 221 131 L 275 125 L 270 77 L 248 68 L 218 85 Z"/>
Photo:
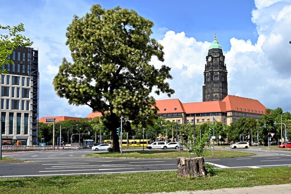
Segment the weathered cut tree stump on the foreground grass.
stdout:
<path fill-rule="evenodd" d="M 180 177 L 205 177 L 207 171 L 203 157 L 177 158 L 178 175 Z"/>

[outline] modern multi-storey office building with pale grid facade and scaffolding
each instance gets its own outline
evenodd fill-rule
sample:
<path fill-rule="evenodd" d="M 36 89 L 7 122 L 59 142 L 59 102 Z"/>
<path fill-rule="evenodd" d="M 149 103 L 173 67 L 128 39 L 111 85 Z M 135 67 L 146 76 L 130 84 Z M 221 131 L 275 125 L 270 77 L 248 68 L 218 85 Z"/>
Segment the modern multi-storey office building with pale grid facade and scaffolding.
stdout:
<path fill-rule="evenodd" d="M 2 140 L 22 145 L 38 143 L 39 71 L 38 49 L 17 47 L 1 75 Z"/>

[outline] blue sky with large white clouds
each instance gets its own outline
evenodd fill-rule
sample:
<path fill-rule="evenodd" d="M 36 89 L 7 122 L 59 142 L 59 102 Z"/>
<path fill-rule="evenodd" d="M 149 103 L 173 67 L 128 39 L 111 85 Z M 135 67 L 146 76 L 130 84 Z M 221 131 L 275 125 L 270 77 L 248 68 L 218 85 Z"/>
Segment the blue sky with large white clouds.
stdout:
<path fill-rule="evenodd" d="M 0 24 L 24 24 L 25 32 L 39 49 L 39 118 L 86 117 L 88 106 L 69 105 L 54 91 L 52 80 L 70 52 L 66 28 L 73 15 L 82 17 L 92 4 L 105 9 L 118 5 L 134 9 L 153 21 L 155 39 L 164 46 L 163 64 L 172 68 L 171 98 L 182 103 L 202 102 L 203 71 L 214 33 L 226 56 L 228 94 L 257 99 L 271 109 L 291 111 L 291 1 L 85 1 L 0 0 Z M 1 32 L 1 31 L 0 31 Z M 3 32 L 1 32 L 3 33 Z M 159 67 L 155 59 L 152 64 Z M 156 99 L 168 99 L 166 95 Z"/>

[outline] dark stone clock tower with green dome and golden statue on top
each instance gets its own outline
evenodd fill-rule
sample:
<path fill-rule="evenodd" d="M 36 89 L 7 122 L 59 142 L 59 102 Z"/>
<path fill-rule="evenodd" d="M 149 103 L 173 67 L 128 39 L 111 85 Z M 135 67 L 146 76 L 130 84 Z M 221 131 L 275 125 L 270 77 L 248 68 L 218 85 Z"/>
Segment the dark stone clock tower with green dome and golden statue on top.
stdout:
<path fill-rule="evenodd" d="M 222 101 L 227 96 L 227 71 L 224 59 L 222 47 L 216 40 L 215 33 L 206 56 L 202 86 L 203 102 Z"/>

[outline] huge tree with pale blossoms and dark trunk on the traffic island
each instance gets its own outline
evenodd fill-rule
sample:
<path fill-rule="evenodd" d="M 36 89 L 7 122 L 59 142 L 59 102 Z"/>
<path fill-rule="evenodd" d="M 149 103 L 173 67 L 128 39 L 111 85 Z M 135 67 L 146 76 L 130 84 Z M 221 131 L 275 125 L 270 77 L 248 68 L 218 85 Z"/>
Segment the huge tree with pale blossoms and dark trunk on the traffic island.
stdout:
<path fill-rule="evenodd" d="M 154 89 L 170 97 L 174 91 L 166 80 L 172 76 L 166 65 L 160 69 L 150 65 L 152 57 L 164 61 L 163 47 L 150 38 L 152 21 L 119 6 L 106 10 L 93 5 L 90 10 L 82 18 L 74 16 L 67 28 L 73 63 L 63 59 L 54 89 L 70 104 L 101 112 L 112 131 L 113 150 L 119 151 L 119 117 L 144 127 L 151 124 L 157 107 L 150 93 Z"/>

